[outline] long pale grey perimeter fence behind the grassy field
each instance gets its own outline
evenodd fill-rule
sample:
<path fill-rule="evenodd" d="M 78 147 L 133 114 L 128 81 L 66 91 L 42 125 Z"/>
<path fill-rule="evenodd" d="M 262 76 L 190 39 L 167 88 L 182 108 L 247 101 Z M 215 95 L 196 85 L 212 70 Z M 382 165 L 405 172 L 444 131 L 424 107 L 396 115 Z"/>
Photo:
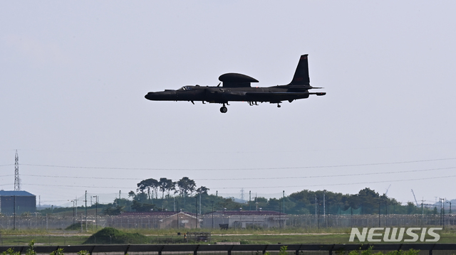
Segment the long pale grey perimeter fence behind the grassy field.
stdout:
<path fill-rule="evenodd" d="M 211 215 L 202 215 L 199 219 L 212 222 Z M 245 217 L 247 222 L 251 221 Z M 257 222 L 258 219 L 255 219 Z M 266 220 L 266 219 L 264 219 Z M 96 224 L 95 224 L 96 222 Z M 119 229 L 157 229 L 160 228 L 160 219 L 147 216 L 116 217 L 95 216 L 73 219 L 58 215 L 46 216 L 0 216 L 0 229 L 66 229 L 73 223 L 81 225 L 81 230 L 95 227 L 115 227 Z M 212 224 L 204 224 L 212 228 Z M 266 226 L 266 223 L 259 224 Z M 248 226 L 248 224 L 247 224 Z M 408 226 L 456 226 L 456 215 L 286 215 L 284 228 L 324 228 L 324 227 L 408 227 Z M 73 226 L 78 230 L 78 226 Z M 78 227 L 78 229 L 76 229 Z M 214 228 L 219 228 L 214 224 Z"/>

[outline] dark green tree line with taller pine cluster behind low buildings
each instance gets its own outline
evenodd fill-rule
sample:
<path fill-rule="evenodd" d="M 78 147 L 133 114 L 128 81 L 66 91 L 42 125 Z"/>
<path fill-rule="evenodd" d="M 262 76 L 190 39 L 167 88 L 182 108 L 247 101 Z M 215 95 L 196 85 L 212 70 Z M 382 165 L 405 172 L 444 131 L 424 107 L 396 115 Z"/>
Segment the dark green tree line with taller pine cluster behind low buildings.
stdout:
<path fill-rule="evenodd" d="M 296 215 L 435 213 L 435 210 L 417 207 L 413 202 L 402 205 L 394 198 L 380 195 L 370 188 L 364 188 L 357 194 L 301 190 L 280 198 L 252 197 L 252 200 L 240 202 L 233 197 L 209 195 L 208 191 L 209 188 L 204 186 L 197 188 L 195 180 L 188 177 L 177 181 L 149 178 L 140 181 L 136 191 L 128 192 L 128 199 L 116 199 L 108 205 L 105 213 L 116 215 L 123 211 L 151 210 L 182 210 L 202 214 L 214 210 L 274 210 Z"/>

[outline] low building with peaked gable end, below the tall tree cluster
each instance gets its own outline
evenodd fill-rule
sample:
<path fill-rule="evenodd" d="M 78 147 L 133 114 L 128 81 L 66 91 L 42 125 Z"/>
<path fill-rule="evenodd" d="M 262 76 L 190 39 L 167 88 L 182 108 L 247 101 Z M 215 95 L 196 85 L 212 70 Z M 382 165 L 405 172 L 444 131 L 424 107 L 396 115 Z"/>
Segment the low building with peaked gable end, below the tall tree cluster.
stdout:
<path fill-rule="evenodd" d="M 108 224 L 120 228 L 194 229 L 202 219 L 191 212 L 123 212 L 113 217 Z"/>

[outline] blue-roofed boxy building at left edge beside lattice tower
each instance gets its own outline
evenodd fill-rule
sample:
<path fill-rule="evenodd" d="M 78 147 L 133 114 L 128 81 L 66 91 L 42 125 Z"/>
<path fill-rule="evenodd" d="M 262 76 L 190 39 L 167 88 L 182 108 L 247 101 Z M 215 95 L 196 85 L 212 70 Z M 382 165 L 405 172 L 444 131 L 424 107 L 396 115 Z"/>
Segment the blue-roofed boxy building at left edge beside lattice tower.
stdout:
<path fill-rule="evenodd" d="M 36 195 L 24 190 L 0 190 L 0 213 L 13 215 L 14 205 L 16 205 L 16 215 L 35 212 Z"/>

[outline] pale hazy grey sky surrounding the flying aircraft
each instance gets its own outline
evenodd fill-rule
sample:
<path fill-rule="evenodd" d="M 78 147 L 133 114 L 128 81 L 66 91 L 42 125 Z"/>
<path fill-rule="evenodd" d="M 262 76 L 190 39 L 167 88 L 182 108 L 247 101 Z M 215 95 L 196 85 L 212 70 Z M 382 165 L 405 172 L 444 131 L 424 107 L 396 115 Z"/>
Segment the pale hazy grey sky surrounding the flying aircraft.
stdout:
<path fill-rule="evenodd" d="M 42 204 L 146 178 L 210 193 L 456 198 L 455 1 L 2 1 L 0 188 Z M 291 81 L 309 54 L 324 97 L 281 108 L 151 102 L 150 91 Z M 109 195 L 108 195 L 109 194 Z"/>

